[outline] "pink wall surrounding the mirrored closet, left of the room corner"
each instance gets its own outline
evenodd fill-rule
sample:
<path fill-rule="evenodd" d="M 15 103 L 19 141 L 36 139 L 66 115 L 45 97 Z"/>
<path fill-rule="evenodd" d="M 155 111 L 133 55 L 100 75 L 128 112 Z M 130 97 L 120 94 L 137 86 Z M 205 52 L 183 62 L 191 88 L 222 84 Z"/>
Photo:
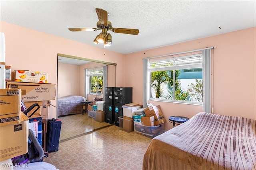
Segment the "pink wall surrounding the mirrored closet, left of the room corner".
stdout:
<path fill-rule="evenodd" d="M 124 86 L 123 54 L 108 51 L 103 46 L 86 45 L 4 21 L 0 22 L 0 31 L 5 35 L 6 65 L 12 66 L 12 70 L 48 72 L 48 82 L 57 84 L 57 54 L 61 53 L 116 63 L 116 85 Z M 51 104 L 56 106 L 56 100 Z M 57 115 L 54 106 L 50 106 L 49 118 Z"/>

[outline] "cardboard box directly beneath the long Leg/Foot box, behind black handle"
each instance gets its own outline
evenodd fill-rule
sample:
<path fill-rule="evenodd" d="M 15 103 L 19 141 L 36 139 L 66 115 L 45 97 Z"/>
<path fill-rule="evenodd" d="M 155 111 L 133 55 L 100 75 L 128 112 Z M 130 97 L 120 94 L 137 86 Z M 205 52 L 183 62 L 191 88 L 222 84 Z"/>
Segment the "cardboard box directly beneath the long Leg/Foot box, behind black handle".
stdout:
<path fill-rule="evenodd" d="M 36 102 L 24 102 L 27 109 L 36 103 L 39 105 L 40 108 L 34 113 L 34 115 L 41 116 L 42 119 L 48 119 L 48 110 L 49 110 L 51 101 L 43 100 L 43 101 L 36 101 Z"/>

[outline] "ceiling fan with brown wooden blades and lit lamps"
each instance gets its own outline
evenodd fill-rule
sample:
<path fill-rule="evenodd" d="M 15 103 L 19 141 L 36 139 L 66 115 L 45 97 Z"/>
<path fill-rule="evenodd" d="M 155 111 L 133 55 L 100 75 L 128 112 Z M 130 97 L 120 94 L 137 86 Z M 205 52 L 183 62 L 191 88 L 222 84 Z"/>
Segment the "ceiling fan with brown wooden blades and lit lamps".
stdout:
<path fill-rule="evenodd" d="M 97 22 L 97 28 L 68 28 L 70 31 L 97 31 L 102 30 L 102 32 L 97 35 L 94 39 L 94 43 L 104 43 L 105 46 L 110 46 L 112 44 L 112 37 L 107 31 L 113 31 L 114 33 L 124 33 L 138 35 L 138 29 L 129 28 L 113 28 L 112 23 L 108 21 L 108 12 L 100 8 L 96 8 L 97 16 L 99 21 Z"/>

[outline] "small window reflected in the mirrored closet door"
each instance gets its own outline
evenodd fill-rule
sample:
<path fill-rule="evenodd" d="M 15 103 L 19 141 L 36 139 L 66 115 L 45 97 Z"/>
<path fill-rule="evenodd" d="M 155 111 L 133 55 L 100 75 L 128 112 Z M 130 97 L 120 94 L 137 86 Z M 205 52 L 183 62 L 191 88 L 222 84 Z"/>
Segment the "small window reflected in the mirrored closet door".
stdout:
<path fill-rule="evenodd" d="M 89 77 L 89 93 L 102 94 L 103 88 L 103 68 L 96 70 L 88 70 Z"/>

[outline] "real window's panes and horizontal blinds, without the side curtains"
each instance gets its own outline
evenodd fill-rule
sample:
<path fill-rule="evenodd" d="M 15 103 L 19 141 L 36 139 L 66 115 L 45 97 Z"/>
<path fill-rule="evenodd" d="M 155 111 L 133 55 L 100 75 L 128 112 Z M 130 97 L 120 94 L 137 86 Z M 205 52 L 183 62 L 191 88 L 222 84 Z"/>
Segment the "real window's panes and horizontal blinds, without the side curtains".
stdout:
<path fill-rule="evenodd" d="M 202 54 L 151 60 L 151 99 L 202 102 Z M 201 104 L 201 103 L 198 103 Z"/>

